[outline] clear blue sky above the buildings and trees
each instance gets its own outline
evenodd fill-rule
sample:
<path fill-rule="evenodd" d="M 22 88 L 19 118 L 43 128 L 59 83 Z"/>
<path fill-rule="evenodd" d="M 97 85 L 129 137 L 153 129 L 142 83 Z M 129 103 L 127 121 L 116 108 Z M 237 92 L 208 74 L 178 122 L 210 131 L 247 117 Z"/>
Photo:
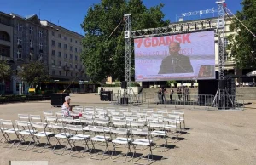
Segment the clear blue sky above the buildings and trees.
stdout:
<path fill-rule="evenodd" d="M 39 14 L 40 19 L 49 20 L 55 24 L 63 26 L 69 30 L 82 33 L 80 24 L 84 20 L 87 9 L 94 3 L 100 3 L 101 0 L 2 0 L 0 11 L 4 13 L 15 13 L 21 16 Z M 177 14 L 217 9 L 216 0 L 143 0 L 148 7 L 152 7 L 159 3 L 164 3 L 165 20 L 169 19 L 175 22 Z M 227 8 L 234 14 L 237 10 L 241 10 L 241 0 L 226 0 Z M 206 14 L 203 17 L 212 17 L 213 14 Z M 217 13 L 215 13 L 217 16 Z M 185 17 L 184 19 L 195 20 L 200 19 L 199 16 Z"/>

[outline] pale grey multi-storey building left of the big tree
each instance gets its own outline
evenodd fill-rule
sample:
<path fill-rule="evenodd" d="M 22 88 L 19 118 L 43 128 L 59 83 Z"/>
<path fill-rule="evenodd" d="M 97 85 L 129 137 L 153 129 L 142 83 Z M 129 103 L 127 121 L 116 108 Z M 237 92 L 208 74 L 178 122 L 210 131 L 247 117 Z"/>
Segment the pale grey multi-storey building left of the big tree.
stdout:
<path fill-rule="evenodd" d="M 59 81 L 76 82 L 87 79 L 80 57 L 84 36 L 47 20 L 41 21 L 41 24 L 48 30 L 50 77 Z"/>

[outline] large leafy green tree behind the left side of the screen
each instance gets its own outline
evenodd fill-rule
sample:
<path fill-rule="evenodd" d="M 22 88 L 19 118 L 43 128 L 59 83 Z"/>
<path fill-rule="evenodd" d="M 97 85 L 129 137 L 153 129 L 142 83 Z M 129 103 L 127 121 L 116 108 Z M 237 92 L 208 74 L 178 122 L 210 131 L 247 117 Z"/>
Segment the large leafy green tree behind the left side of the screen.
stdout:
<path fill-rule="evenodd" d="M 162 20 L 165 16 L 161 11 L 163 6 L 147 9 L 142 0 L 102 0 L 90 7 L 81 25 L 85 32 L 81 56 L 86 73 L 95 81 L 107 76 L 113 80 L 124 78 L 124 14 L 131 13 L 132 30 L 167 26 L 169 21 Z M 133 59 L 132 54 L 131 67 L 134 67 Z"/>

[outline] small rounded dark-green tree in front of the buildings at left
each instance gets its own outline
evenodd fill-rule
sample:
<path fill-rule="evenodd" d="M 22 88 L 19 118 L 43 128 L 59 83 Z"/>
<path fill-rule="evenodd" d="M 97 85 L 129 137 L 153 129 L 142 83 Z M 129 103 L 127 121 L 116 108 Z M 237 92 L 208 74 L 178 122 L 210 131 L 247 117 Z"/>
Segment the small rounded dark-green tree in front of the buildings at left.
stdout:
<path fill-rule="evenodd" d="M 31 85 L 38 85 L 44 81 L 49 80 L 49 74 L 45 65 L 39 61 L 30 61 L 29 63 L 22 65 L 21 71 L 18 76 L 26 83 Z"/>

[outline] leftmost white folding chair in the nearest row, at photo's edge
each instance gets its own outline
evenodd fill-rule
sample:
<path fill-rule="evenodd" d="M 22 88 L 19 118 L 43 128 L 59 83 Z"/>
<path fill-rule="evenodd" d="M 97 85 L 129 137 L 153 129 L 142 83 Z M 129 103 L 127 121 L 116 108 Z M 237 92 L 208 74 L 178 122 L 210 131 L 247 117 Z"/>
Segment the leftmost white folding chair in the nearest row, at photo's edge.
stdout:
<path fill-rule="evenodd" d="M 1 123 L 2 123 L 1 132 L 3 134 L 3 138 L 5 139 L 3 141 L 3 145 L 13 141 L 13 143 L 9 146 L 9 148 L 11 148 L 15 145 L 17 141 L 20 141 L 20 137 L 19 137 L 20 130 L 18 128 L 15 128 L 11 120 L 1 120 Z M 10 139 L 10 134 L 14 134 L 16 138 L 14 140 Z"/>

